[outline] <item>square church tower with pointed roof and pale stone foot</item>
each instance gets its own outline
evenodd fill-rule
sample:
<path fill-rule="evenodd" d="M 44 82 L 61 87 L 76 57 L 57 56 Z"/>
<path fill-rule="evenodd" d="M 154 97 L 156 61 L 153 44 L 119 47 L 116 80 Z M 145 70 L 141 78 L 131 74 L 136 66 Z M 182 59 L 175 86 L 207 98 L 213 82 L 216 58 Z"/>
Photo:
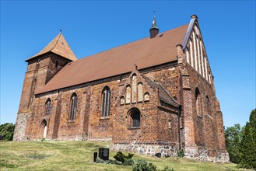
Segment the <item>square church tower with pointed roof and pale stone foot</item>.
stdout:
<path fill-rule="evenodd" d="M 62 33 L 51 40 L 42 51 L 26 59 L 28 65 L 19 103 L 14 141 L 26 140 L 25 134 L 26 131 L 29 131 L 29 129 L 26 129 L 26 123 L 33 121 L 35 92 L 46 85 L 68 62 L 76 59 Z"/>

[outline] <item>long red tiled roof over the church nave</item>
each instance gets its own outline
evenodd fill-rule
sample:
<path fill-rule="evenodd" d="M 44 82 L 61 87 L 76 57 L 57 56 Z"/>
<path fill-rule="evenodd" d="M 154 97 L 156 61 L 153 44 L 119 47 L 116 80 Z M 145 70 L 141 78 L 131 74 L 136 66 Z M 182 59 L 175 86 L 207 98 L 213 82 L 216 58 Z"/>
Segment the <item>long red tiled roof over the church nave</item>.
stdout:
<path fill-rule="evenodd" d="M 161 37 L 161 34 L 152 39 L 146 37 L 72 61 L 54 75 L 54 78 L 37 94 L 132 72 L 134 65 L 142 69 L 175 61 L 176 45 L 182 43 L 187 29 L 188 24 L 161 33 L 163 34 Z"/>

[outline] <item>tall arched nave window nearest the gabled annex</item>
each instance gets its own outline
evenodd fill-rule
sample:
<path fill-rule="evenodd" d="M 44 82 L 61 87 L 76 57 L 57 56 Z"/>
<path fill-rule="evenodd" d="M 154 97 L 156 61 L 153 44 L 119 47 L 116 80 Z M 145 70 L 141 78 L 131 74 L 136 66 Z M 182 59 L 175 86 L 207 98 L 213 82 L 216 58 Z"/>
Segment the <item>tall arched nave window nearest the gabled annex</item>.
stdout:
<path fill-rule="evenodd" d="M 110 116 L 110 88 L 106 86 L 102 91 L 101 117 Z"/>

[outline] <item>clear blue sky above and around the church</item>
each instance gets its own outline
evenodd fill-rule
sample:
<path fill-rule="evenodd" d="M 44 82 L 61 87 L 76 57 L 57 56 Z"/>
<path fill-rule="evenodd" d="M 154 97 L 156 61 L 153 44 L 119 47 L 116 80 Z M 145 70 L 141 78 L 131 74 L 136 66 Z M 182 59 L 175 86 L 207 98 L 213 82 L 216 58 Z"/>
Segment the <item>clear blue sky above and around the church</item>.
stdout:
<path fill-rule="evenodd" d="M 1 1 L 1 124 L 16 122 L 26 58 L 62 29 L 78 58 L 149 37 L 196 14 L 226 127 L 255 108 L 255 1 Z"/>

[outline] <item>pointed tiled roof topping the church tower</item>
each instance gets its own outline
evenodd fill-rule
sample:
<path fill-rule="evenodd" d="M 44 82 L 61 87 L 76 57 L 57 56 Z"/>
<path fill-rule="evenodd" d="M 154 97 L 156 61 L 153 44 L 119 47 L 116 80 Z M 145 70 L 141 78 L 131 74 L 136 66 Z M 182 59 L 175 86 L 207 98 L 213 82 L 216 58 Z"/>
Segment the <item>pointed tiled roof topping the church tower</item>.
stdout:
<path fill-rule="evenodd" d="M 46 47 L 39 53 L 33 55 L 33 57 L 26 59 L 29 61 L 30 59 L 36 58 L 41 54 L 46 54 L 48 52 L 53 52 L 54 54 L 58 54 L 63 58 L 67 58 L 68 60 L 75 61 L 77 58 L 73 53 L 72 49 L 68 46 L 67 41 L 63 37 L 62 33 L 59 33 L 57 37 L 55 37 Z"/>

